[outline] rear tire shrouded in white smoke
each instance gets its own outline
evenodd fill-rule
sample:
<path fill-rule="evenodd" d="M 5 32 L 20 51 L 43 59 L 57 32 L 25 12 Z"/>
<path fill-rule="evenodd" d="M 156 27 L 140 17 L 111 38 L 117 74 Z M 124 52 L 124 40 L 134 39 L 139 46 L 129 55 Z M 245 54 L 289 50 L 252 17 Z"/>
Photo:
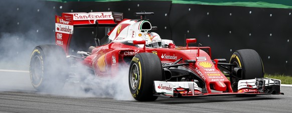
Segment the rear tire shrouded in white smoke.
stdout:
<path fill-rule="evenodd" d="M 30 61 L 33 87 L 42 92 L 63 88 L 67 79 L 68 61 L 62 47 L 39 45 L 34 48 Z"/>

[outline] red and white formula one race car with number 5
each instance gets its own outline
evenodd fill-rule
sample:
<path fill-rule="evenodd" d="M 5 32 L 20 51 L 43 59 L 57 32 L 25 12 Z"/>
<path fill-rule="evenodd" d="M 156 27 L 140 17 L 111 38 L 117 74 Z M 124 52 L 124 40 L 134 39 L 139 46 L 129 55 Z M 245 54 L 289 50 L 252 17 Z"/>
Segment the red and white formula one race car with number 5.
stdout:
<path fill-rule="evenodd" d="M 140 19 L 123 19 L 119 12 L 70 12 L 56 15 L 56 45 L 39 45 L 32 52 L 30 77 L 35 89 L 62 88 L 75 62 L 90 68 L 96 78 L 114 78 L 129 67 L 128 85 L 137 101 L 158 97 L 256 96 L 282 94 L 281 81 L 263 78 L 263 64 L 252 49 L 235 51 L 226 59 L 211 59 L 210 47 L 176 46 L 161 39 L 146 18 L 153 12 L 136 12 Z M 69 54 L 75 27 L 112 27 L 89 51 Z M 100 40 L 105 40 L 101 44 Z M 227 79 L 230 78 L 230 81 Z"/>

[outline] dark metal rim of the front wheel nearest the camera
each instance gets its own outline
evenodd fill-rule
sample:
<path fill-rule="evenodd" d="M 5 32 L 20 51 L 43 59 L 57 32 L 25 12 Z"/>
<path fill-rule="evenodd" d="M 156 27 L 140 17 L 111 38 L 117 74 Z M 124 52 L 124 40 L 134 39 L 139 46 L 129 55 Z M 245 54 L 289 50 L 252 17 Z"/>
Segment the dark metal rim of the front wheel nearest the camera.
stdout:
<path fill-rule="evenodd" d="M 132 90 L 136 90 L 139 84 L 140 75 L 137 64 L 133 64 L 130 71 L 130 85 Z"/>

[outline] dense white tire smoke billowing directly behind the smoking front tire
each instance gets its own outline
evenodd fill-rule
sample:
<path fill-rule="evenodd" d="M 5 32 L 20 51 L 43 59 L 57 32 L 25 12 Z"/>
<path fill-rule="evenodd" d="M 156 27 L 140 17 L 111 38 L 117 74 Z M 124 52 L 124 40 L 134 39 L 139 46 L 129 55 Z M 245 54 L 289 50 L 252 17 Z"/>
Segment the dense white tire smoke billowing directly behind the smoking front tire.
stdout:
<path fill-rule="evenodd" d="M 86 69 L 84 69 L 86 70 Z M 85 75 L 76 75 L 76 81 L 72 78 L 68 81 L 61 92 L 57 95 L 73 96 L 73 97 L 99 97 L 113 98 L 115 100 L 133 101 L 128 86 L 128 68 L 124 68 L 117 72 L 114 78 L 97 78 L 91 73 L 80 71 Z"/>

